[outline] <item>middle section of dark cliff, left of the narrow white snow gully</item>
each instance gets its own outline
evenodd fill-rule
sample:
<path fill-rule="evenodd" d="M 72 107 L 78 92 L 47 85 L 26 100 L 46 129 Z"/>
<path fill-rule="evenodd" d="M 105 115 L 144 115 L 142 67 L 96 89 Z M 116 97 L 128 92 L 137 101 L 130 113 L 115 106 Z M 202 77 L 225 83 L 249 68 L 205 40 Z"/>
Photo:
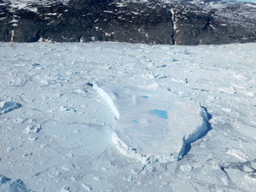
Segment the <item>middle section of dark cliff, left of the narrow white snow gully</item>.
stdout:
<path fill-rule="evenodd" d="M 119 7 L 112 1 L 73 1 L 67 7 L 38 9 L 38 13 L 55 13 L 42 36 L 53 41 L 117 41 L 129 43 L 172 44 L 170 11 L 150 9 L 129 3 Z"/>

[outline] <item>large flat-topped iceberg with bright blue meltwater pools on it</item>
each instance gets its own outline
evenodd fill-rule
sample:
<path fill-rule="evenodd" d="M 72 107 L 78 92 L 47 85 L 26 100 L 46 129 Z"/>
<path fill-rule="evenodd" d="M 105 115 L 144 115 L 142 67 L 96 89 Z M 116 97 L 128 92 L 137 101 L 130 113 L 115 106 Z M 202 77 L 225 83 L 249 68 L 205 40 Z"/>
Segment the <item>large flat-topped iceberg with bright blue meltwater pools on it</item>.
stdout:
<path fill-rule="evenodd" d="M 186 145 L 209 131 L 205 108 L 157 86 L 113 88 L 110 95 L 93 87 L 118 119 L 113 143 L 143 163 L 179 160 Z"/>

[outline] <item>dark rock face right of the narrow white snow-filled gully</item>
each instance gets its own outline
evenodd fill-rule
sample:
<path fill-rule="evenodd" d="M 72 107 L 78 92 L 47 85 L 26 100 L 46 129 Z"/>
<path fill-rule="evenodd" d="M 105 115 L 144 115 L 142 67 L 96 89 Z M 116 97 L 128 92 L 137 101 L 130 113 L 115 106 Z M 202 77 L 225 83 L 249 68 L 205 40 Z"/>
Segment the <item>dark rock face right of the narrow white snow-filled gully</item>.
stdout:
<path fill-rule="evenodd" d="M 237 18 L 237 21 L 241 21 L 241 24 L 237 24 L 232 20 L 219 18 L 216 9 L 206 12 L 201 8 L 189 8 L 189 11 L 173 9 L 172 14 L 177 28 L 174 36 L 176 44 L 230 44 L 256 40 L 256 25 L 254 29 L 241 25 L 243 22 L 253 23 L 249 18 L 247 21 L 245 18 Z"/>

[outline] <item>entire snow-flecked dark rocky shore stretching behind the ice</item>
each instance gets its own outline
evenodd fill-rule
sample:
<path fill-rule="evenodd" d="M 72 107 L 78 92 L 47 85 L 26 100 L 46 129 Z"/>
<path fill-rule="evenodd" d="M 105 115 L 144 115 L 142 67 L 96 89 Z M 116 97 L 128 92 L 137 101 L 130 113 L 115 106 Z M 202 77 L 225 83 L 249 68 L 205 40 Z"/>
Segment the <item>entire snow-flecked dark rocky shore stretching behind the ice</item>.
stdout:
<path fill-rule="evenodd" d="M 253 3 L 247 6 L 246 3 L 219 2 L 71 0 L 67 4 L 30 4 L 26 9 L 15 11 L 11 3 L 2 4 L 0 41 L 5 42 L 194 45 L 256 41 L 253 21 L 256 5 Z"/>

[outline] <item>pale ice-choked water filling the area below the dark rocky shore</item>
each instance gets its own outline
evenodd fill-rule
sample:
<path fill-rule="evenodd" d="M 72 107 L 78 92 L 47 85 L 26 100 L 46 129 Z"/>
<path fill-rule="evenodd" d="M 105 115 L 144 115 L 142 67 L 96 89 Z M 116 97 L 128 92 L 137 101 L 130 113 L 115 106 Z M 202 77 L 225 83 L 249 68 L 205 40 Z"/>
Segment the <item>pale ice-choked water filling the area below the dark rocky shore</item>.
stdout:
<path fill-rule="evenodd" d="M 255 50 L 1 43 L 0 175 L 47 192 L 256 191 Z M 181 158 L 157 156 L 190 133 Z"/>

